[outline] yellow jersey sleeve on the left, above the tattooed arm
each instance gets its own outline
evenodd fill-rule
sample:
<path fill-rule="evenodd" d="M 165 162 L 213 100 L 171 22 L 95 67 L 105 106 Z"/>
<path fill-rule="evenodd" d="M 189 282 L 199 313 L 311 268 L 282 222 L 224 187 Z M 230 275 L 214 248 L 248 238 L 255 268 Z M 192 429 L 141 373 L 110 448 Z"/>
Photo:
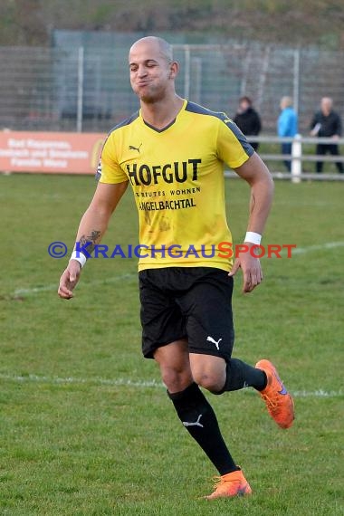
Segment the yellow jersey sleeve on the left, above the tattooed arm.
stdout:
<path fill-rule="evenodd" d="M 100 183 L 108 185 L 116 185 L 117 183 L 128 181 L 128 177 L 119 167 L 114 133 L 110 133 L 104 143 L 96 177 Z"/>

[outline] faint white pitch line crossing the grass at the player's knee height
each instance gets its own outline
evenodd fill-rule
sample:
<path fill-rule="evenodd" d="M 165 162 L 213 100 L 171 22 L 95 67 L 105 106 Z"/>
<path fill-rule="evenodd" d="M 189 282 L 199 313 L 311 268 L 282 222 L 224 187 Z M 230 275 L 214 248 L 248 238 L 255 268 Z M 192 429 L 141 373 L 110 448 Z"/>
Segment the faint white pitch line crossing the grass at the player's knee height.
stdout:
<path fill-rule="evenodd" d="M 152 380 L 131 380 L 130 378 L 100 378 L 100 377 L 90 377 L 90 378 L 81 378 L 81 377 L 46 377 L 39 375 L 11 375 L 6 373 L 0 373 L 0 380 L 13 381 L 16 383 L 37 383 L 37 384 L 47 384 L 47 385 L 90 385 L 90 386 L 110 386 L 110 387 L 136 387 L 136 388 L 145 388 L 145 387 L 159 387 L 166 388 L 163 383 L 156 379 Z M 244 393 L 253 393 L 253 390 L 243 389 Z M 292 391 L 292 395 L 294 397 L 342 397 L 344 396 L 344 391 L 339 390 L 296 390 Z"/>

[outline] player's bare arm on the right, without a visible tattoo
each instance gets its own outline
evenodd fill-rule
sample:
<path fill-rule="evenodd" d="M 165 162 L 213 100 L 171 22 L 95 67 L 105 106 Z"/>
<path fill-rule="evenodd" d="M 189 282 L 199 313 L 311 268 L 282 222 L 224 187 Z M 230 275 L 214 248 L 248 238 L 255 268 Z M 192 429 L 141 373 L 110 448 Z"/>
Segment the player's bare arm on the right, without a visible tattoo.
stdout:
<path fill-rule="evenodd" d="M 263 234 L 272 205 L 272 176 L 262 159 L 255 152 L 245 161 L 244 165 L 236 167 L 235 172 L 251 186 L 250 216 L 247 231 Z M 249 248 L 253 246 L 253 244 L 247 242 L 244 244 Z M 240 253 L 235 259 L 230 275 L 233 276 L 239 268 L 242 269 L 244 275 L 243 291 L 253 291 L 263 280 L 260 260 L 253 258 L 251 253 Z"/>

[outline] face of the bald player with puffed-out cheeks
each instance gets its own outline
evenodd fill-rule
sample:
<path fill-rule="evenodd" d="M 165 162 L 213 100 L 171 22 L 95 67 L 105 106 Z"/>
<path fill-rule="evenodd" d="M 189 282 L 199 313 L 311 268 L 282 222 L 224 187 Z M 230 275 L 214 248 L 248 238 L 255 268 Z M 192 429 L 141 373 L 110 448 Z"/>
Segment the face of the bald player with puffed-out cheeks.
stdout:
<path fill-rule="evenodd" d="M 130 83 L 140 100 L 152 103 L 164 98 L 175 77 L 174 64 L 167 62 L 156 44 L 137 43 L 131 47 Z"/>

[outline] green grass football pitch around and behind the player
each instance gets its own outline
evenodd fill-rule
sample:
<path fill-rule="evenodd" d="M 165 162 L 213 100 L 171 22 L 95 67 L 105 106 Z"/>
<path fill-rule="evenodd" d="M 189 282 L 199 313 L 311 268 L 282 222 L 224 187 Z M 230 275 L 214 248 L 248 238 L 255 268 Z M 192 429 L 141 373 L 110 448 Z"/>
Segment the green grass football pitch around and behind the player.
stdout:
<path fill-rule="evenodd" d="M 237 277 L 234 356 L 272 358 L 296 420 L 283 432 L 248 390 L 211 398 L 254 491 L 216 502 L 199 500 L 213 466 L 141 358 L 136 260 L 90 261 L 75 299 L 56 294 L 66 259 L 47 247 L 72 251 L 93 189 L 92 177 L 0 176 L 0 513 L 343 514 L 344 185 L 277 183 L 264 243 L 298 251 L 263 259 L 253 294 Z M 249 190 L 240 180 L 226 189 L 240 242 Z M 136 244 L 136 219 L 128 193 L 104 243 Z"/>

